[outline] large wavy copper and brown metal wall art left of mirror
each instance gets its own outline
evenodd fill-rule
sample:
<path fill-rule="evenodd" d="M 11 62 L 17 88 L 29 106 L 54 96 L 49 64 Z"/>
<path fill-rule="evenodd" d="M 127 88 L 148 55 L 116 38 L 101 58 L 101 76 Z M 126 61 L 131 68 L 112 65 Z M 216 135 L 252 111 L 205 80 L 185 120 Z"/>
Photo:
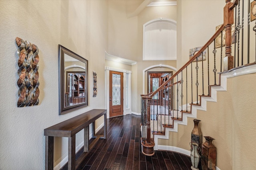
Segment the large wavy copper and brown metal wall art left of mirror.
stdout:
<path fill-rule="evenodd" d="M 39 73 L 38 61 L 39 50 L 34 44 L 16 37 L 16 44 L 18 46 L 18 107 L 33 106 L 39 103 Z"/>

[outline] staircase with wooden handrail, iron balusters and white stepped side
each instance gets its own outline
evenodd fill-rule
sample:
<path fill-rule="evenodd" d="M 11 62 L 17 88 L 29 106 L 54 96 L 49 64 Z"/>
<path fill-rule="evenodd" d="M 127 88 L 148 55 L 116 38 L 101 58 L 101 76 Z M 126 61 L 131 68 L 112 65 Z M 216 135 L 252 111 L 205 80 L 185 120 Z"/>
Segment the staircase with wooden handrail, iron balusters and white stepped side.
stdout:
<path fill-rule="evenodd" d="M 169 131 L 178 132 L 178 124 L 187 125 L 188 117 L 196 118 L 197 110 L 206 111 L 207 101 L 216 102 L 217 91 L 226 91 L 230 72 L 236 75 L 242 75 L 248 70 L 256 72 L 256 55 L 245 56 L 240 51 L 252 50 L 255 53 L 255 47 L 250 47 L 249 43 L 245 47 L 240 41 L 249 37 L 256 40 L 256 34 L 252 34 L 252 31 L 256 32 L 256 26 L 247 37 L 240 35 L 242 19 L 234 18 L 234 12 L 240 10 L 239 5 L 239 0 L 226 0 L 224 23 L 209 41 L 156 91 L 141 95 L 141 145 L 145 155 L 153 155 L 154 150 L 159 149 L 158 139 L 169 139 Z M 236 24 L 234 44 L 232 24 Z M 221 41 L 220 47 L 216 47 L 218 36 L 222 37 L 223 31 L 226 36 L 225 45 Z M 231 48 L 234 48 L 234 54 Z"/>

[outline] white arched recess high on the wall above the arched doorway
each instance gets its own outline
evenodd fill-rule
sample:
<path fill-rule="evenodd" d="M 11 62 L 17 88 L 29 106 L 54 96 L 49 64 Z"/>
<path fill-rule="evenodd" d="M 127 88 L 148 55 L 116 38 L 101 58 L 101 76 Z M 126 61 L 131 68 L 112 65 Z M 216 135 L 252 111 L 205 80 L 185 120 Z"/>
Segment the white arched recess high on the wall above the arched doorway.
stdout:
<path fill-rule="evenodd" d="M 176 21 L 158 18 L 143 25 L 143 60 L 176 60 Z"/>

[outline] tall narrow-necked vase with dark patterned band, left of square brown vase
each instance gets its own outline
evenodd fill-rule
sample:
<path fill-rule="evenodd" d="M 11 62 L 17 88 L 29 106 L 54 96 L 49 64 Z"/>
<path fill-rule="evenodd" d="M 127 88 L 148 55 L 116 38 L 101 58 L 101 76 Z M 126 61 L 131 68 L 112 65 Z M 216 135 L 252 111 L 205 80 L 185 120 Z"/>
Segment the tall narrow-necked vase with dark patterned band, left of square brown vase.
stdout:
<path fill-rule="evenodd" d="M 201 170 L 201 147 L 202 147 L 202 132 L 199 127 L 199 123 L 201 120 L 194 119 L 194 129 L 191 132 L 191 162 L 192 170 Z"/>

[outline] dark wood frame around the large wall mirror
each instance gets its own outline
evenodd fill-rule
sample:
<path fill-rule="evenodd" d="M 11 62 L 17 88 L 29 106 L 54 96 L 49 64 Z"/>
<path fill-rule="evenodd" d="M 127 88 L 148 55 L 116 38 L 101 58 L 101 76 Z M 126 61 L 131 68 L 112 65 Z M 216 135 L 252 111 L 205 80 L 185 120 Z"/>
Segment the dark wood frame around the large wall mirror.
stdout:
<path fill-rule="evenodd" d="M 82 107 L 88 106 L 88 60 L 84 59 L 80 55 L 68 50 L 62 45 L 58 46 L 59 52 L 59 115 L 80 109 Z M 84 92 L 83 92 L 83 101 L 77 102 L 78 104 L 72 104 L 71 106 L 66 106 L 66 91 L 67 91 L 67 75 L 65 74 L 65 61 L 64 55 L 68 55 L 74 60 L 82 62 L 85 66 L 85 71 L 82 74 L 84 76 Z M 74 71 L 73 71 L 74 72 Z M 81 74 L 81 71 L 76 71 L 78 74 Z M 76 74 L 76 73 L 75 73 Z M 65 88 L 66 87 L 66 88 Z M 84 98 L 85 97 L 85 98 Z"/>

